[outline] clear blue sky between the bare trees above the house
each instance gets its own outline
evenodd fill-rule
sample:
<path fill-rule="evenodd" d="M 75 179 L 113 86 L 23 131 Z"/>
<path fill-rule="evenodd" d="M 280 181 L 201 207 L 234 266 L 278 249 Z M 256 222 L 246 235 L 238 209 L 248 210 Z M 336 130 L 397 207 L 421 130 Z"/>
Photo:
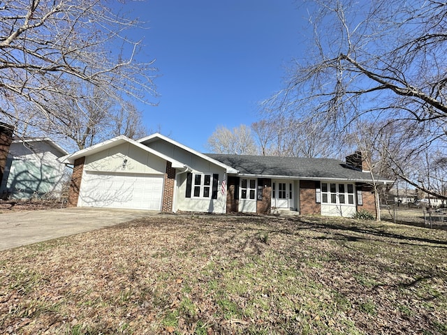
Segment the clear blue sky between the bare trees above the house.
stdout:
<path fill-rule="evenodd" d="M 156 59 L 156 107 L 141 106 L 148 128 L 198 151 L 217 126 L 259 119 L 258 103 L 283 86 L 302 57 L 304 21 L 293 0 L 131 2 L 147 22 L 145 54 Z"/>

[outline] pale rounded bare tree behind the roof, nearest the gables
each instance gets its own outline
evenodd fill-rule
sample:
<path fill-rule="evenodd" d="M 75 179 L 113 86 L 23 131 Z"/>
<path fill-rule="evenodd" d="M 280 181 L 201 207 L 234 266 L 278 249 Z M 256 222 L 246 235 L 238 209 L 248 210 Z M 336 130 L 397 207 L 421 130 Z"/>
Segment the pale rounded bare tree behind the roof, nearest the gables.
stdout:
<path fill-rule="evenodd" d="M 219 126 L 208 138 L 207 148 L 216 154 L 256 155 L 258 147 L 251 135 L 250 128 L 241 124 L 230 129 Z"/>

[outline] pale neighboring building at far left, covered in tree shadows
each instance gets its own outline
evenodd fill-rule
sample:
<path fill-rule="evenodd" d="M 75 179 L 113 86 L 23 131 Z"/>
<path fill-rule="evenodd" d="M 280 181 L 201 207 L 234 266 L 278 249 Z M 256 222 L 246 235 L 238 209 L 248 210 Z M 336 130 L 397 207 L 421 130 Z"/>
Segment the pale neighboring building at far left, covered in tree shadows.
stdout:
<path fill-rule="evenodd" d="M 67 172 L 58 158 L 67 154 L 48 138 L 11 138 L 0 183 L 1 199 L 59 198 Z"/>

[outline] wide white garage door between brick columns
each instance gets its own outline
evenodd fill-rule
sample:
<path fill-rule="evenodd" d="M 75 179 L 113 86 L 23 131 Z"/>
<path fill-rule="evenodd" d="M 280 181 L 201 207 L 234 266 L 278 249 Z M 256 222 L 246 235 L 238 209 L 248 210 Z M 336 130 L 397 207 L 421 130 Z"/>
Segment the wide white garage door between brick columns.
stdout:
<path fill-rule="evenodd" d="M 84 174 L 78 206 L 159 211 L 163 176 L 141 174 Z"/>

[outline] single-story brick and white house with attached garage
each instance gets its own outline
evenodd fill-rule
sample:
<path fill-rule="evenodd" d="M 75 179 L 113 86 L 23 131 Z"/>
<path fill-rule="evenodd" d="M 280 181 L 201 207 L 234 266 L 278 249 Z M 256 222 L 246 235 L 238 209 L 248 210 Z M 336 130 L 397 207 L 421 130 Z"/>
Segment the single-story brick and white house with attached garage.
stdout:
<path fill-rule="evenodd" d="M 69 206 L 331 216 L 375 211 L 372 174 L 362 170 L 358 153 L 348 163 L 201 154 L 156 133 L 138 141 L 121 135 L 61 161 L 73 165 Z"/>

